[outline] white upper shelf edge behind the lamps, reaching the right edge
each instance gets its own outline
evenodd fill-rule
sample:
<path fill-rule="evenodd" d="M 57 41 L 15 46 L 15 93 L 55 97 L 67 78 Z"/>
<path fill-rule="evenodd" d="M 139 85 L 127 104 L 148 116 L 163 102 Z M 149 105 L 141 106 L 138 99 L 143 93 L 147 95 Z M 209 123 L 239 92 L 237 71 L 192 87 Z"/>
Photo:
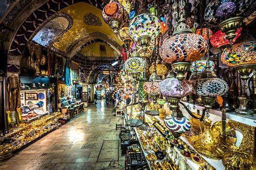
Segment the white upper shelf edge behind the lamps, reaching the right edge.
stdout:
<path fill-rule="evenodd" d="M 181 101 L 181 102 L 184 103 L 185 105 L 188 105 L 190 110 L 191 110 L 191 108 L 193 108 L 193 106 L 195 106 L 197 110 L 203 110 L 205 108 L 201 105 L 197 105 L 197 104 L 194 105 L 192 103 L 183 102 L 183 101 Z M 183 105 L 180 105 L 180 107 L 183 107 Z M 209 114 L 213 114 L 213 115 L 222 117 L 222 112 L 219 109 L 210 109 Z M 227 112 L 226 118 L 256 127 L 256 115 L 255 114 L 253 116 L 242 116 L 242 115 L 235 114 L 235 112 Z"/>

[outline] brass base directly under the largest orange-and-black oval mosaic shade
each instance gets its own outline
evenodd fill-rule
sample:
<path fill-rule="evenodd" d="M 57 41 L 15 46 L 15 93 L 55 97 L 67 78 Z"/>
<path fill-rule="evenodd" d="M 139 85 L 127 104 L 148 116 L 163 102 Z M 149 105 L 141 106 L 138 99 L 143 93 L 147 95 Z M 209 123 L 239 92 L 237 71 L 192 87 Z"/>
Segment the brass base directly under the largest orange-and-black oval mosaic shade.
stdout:
<path fill-rule="evenodd" d="M 185 73 L 188 72 L 188 70 L 190 69 L 191 63 L 190 62 L 175 62 L 172 63 L 172 69 L 173 72 L 175 72 L 177 74 L 177 79 L 179 81 L 183 81 L 183 79 L 185 78 Z"/>

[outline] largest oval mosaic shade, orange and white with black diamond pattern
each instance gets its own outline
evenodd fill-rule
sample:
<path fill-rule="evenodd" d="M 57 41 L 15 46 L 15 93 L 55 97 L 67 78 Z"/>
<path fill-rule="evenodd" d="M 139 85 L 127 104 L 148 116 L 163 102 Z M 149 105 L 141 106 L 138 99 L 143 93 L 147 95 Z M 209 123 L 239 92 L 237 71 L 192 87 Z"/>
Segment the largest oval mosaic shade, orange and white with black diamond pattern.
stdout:
<path fill-rule="evenodd" d="M 207 42 L 198 34 L 182 33 L 166 38 L 160 48 L 161 58 L 167 62 L 199 60 L 206 53 Z"/>

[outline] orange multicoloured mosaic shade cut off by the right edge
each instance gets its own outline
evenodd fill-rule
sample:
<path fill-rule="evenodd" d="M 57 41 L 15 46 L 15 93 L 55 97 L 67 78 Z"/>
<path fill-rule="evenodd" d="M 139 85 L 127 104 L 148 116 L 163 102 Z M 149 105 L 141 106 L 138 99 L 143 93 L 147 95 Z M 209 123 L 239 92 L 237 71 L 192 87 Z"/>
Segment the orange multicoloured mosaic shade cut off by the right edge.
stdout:
<path fill-rule="evenodd" d="M 256 63 L 256 41 L 240 42 L 231 48 L 225 48 L 221 61 L 227 66 Z"/>

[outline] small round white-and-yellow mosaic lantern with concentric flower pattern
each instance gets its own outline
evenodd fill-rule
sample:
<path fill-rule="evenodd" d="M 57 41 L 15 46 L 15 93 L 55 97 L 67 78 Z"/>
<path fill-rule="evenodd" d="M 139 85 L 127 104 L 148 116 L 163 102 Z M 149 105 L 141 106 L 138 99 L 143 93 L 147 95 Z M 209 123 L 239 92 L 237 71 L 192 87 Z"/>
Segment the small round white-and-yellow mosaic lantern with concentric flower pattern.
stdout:
<path fill-rule="evenodd" d="M 126 72 L 131 73 L 131 75 L 136 78 L 140 73 L 143 72 L 146 67 L 146 61 L 141 58 L 137 52 L 137 48 L 134 48 L 134 51 L 131 55 L 131 58 L 127 59 L 124 63 L 124 68 Z"/>

